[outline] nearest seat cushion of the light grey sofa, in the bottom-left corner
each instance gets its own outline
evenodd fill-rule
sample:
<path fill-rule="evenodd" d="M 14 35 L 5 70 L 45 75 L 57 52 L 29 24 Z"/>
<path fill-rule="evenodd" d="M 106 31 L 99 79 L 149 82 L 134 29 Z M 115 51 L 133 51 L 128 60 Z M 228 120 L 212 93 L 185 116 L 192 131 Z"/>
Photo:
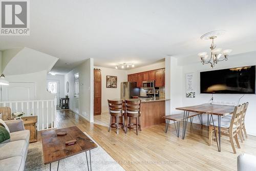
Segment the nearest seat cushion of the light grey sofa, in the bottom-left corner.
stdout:
<path fill-rule="evenodd" d="M 1 171 L 19 171 L 24 170 L 24 164 L 22 162 L 22 156 L 15 156 L 7 159 L 0 160 Z"/>

